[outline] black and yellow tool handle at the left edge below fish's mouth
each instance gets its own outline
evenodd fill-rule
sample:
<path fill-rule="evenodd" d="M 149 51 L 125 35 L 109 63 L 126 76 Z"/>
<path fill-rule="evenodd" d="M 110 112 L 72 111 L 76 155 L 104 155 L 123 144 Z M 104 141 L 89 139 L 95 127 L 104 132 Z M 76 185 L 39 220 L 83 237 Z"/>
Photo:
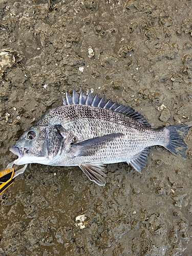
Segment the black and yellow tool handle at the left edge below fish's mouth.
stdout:
<path fill-rule="evenodd" d="M 14 182 L 14 168 L 2 170 L 0 172 L 0 195 Z"/>

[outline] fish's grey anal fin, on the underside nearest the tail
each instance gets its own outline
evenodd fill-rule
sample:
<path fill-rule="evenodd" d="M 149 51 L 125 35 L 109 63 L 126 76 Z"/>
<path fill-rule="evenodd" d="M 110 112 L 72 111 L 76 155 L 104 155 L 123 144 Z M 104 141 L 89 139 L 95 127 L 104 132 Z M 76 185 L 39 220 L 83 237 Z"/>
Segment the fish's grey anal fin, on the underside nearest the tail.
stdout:
<path fill-rule="evenodd" d="M 147 156 L 150 153 L 150 147 L 146 147 L 136 158 L 127 161 L 137 172 L 141 174 L 141 169 L 146 166 Z"/>

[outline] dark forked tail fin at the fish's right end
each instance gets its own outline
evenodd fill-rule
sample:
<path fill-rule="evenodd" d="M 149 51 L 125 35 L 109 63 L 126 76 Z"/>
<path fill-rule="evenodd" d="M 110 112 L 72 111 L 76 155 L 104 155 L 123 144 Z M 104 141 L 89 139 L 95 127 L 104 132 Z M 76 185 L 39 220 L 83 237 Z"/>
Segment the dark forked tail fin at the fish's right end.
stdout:
<path fill-rule="evenodd" d="M 190 127 L 191 125 L 188 124 L 176 124 L 165 127 L 167 141 L 165 148 L 175 155 L 186 158 L 187 145 L 184 142 L 184 138 Z"/>

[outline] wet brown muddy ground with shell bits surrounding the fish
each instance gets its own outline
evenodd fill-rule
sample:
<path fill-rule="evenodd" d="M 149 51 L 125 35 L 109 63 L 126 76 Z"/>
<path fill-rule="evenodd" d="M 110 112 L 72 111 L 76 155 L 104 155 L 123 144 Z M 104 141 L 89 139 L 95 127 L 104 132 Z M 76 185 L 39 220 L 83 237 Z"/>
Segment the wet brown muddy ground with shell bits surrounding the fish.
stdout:
<path fill-rule="evenodd" d="M 192 3 L 0 2 L 0 168 L 15 141 L 75 88 L 129 104 L 158 128 L 191 121 Z M 153 147 L 142 175 L 30 164 L 0 196 L 0 255 L 191 255 L 187 158 Z"/>

